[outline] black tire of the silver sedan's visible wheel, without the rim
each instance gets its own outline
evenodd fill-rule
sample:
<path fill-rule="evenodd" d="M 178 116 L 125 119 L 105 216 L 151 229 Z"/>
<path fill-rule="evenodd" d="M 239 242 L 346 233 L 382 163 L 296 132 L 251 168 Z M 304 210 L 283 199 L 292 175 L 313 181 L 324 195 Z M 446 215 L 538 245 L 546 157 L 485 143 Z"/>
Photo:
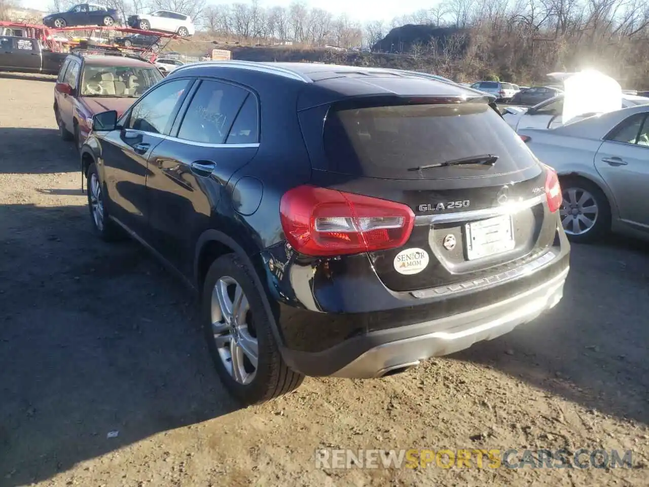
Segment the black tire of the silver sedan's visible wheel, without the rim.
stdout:
<path fill-rule="evenodd" d="M 564 225 L 568 240 L 574 243 L 593 243 L 601 240 L 611 230 L 611 205 L 609 205 L 604 192 L 594 182 L 582 177 L 561 177 L 559 184 L 561 184 L 561 192 L 563 192 L 563 205 L 561 206 L 561 210 L 559 210 L 561 212 L 560 218 L 562 225 L 567 212 L 572 210 L 572 208 L 569 208 L 569 195 L 571 190 L 575 190 L 578 197 L 581 197 L 584 194 L 583 192 L 589 193 L 594 205 L 597 207 L 594 224 L 588 231 L 576 233 L 572 232 L 572 223 L 569 223 L 569 229 L 566 229 Z M 592 206 L 588 205 L 588 207 Z"/>

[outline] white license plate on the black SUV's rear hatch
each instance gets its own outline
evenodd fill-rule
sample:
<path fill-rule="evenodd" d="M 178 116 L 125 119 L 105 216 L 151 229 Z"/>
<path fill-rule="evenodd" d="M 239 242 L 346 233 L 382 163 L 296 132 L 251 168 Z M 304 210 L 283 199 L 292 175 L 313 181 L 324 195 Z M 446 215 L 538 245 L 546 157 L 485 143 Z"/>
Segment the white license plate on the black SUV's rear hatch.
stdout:
<path fill-rule="evenodd" d="M 465 235 L 469 260 L 506 252 L 515 246 L 509 215 L 467 223 Z"/>

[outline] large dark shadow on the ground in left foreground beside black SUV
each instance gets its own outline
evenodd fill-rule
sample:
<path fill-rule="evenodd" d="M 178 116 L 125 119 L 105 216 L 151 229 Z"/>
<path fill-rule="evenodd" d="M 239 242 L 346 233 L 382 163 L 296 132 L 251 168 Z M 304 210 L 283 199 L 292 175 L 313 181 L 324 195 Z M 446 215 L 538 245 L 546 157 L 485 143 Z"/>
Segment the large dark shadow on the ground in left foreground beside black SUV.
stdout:
<path fill-rule="evenodd" d="M 236 410 L 195 309 L 139 245 L 98 240 L 86 206 L 0 206 L 0 484 Z"/>

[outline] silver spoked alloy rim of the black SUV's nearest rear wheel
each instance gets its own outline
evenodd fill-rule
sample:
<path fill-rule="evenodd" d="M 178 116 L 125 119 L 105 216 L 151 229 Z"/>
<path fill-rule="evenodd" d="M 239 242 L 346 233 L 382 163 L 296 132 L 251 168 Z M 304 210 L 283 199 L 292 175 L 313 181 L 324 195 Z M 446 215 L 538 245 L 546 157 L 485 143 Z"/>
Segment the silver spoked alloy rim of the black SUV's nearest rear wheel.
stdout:
<path fill-rule="evenodd" d="M 214 341 L 225 369 L 239 384 L 250 384 L 259 358 L 256 330 L 248 298 L 232 277 L 216 281 L 211 315 Z"/>

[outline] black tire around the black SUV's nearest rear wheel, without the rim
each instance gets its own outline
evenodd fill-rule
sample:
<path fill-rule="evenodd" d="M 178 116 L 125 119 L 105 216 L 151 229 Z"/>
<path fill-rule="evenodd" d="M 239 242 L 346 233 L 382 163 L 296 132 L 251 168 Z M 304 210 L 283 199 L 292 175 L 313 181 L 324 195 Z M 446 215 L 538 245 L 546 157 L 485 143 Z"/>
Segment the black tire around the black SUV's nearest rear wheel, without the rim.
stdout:
<path fill-rule="evenodd" d="M 278 349 L 271 327 L 272 316 L 269 316 L 264 306 L 260 290 L 252 277 L 252 271 L 243 259 L 236 254 L 227 254 L 217 258 L 205 277 L 201 319 L 210 354 L 221 382 L 243 405 L 263 403 L 275 397 L 295 390 L 302 384 L 304 376 L 292 371 L 286 366 Z M 249 303 L 249 315 L 254 323 L 254 331 L 258 343 L 258 364 L 254 379 L 249 384 L 241 384 L 234 380 L 226 368 L 214 339 L 212 330 L 212 291 L 221 277 L 230 277 L 241 286 Z"/>

